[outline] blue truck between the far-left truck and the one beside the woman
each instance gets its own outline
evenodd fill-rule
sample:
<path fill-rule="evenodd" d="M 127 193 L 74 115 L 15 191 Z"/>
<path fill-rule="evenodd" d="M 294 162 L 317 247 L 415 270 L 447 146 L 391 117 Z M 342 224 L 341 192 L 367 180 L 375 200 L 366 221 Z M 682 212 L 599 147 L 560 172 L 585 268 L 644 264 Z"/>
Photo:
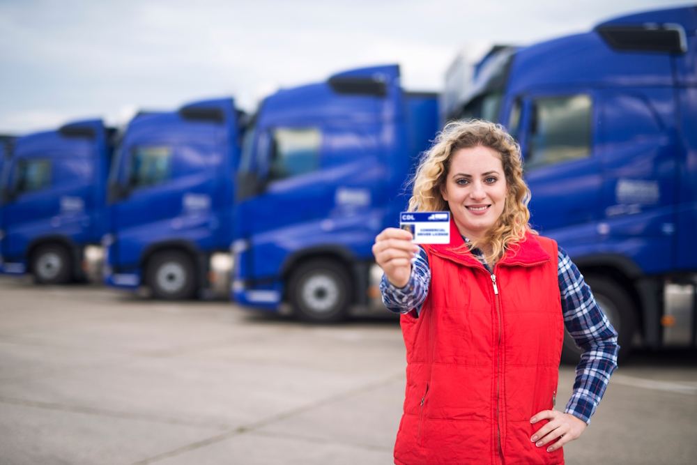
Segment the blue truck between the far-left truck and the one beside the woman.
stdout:
<path fill-rule="evenodd" d="M 109 177 L 105 284 L 166 299 L 205 294 L 211 259 L 229 262 L 244 122 L 231 98 L 135 116 Z"/>

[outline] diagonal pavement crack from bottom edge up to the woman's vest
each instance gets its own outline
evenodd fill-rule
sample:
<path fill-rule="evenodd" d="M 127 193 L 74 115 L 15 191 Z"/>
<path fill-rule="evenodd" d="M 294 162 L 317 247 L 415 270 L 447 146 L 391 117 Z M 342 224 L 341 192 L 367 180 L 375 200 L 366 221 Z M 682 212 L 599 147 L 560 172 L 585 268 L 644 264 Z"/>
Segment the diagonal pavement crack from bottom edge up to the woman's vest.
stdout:
<path fill-rule="evenodd" d="M 263 420 L 259 420 L 257 422 L 252 422 L 249 425 L 243 425 L 241 427 L 238 427 L 238 428 L 234 429 L 233 431 L 224 432 L 222 434 L 217 434 L 216 436 L 211 436 L 210 438 L 204 439 L 203 441 L 197 441 L 195 443 L 184 445 L 181 448 L 177 448 L 174 450 L 170 450 L 169 452 L 164 452 L 162 454 L 155 455 L 155 456 L 150 457 L 148 459 L 141 460 L 140 462 L 135 462 L 132 465 L 148 465 L 148 464 L 153 464 L 155 462 L 160 462 L 160 460 L 169 459 L 170 457 L 176 457 L 177 455 L 181 455 L 185 452 L 190 452 L 192 450 L 204 448 L 207 445 L 220 443 L 222 441 L 225 441 L 226 439 L 231 439 L 235 436 L 239 436 L 240 434 L 254 432 L 256 429 L 259 429 L 261 427 L 265 427 L 267 425 L 271 425 L 273 423 L 276 423 L 276 422 L 279 422 L 282 420 L 286 420 L 286 419 L 291 418 L 293 416 L 300 415 L 301 413 L 306 413 L 306 412 L 312 411 L 314 409 L 318 409 L 321 406 L 333 404 L 335 402 L 339 402 L 339 401 L 342 401 L 344 399 L 349 399 L 355 395 L 359 395 L 359 394 L 362 394 L 365 392 L 369 392 L 371 390 L 382 388 L 383 386 L 388 386 L 390 383 L 393 383 L 395 381 L 402 381 L 403 379 L 404 379 L 404 372 L 400 371 L 398 374 L 392 374 L 390 376 L 386 376 L 385 378 L 383 378 L 379 381 L 375 381 L 374 383 L 368 383 L 364 386 L 360 386 L 358 388 L 353 388 L 353 389 L 348 390 L 346 392 L 332 395 L 330 397 L 327 397 L 326 399 L 322 399 L 322 400 L 319 400 L 317 402 L 313 402 L 312 404 L 307 404 L 304 406 L 297 407 L 296 409 L 291 409 L 289 411 L 277 413 L 276 415 L 270 416 L 269 418 L 264 418 Z"/>

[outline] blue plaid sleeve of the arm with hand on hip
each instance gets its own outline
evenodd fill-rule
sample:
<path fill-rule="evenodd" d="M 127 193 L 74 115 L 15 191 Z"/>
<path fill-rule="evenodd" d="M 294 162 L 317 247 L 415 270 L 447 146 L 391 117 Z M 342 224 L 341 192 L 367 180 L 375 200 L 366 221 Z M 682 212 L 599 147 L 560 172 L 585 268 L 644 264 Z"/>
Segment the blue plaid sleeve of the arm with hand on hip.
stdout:
<path fill-rule="evenodd" d="M 586 423 L 595 412 L 610 375 L 617 368 L 617 332 L 598 306 L 579 268 L 559 247 L 559 291 L 562 298 L 564 326 L 576 346 L 584 349 L 576 367 L 574 392 L 564 410 Z"/>

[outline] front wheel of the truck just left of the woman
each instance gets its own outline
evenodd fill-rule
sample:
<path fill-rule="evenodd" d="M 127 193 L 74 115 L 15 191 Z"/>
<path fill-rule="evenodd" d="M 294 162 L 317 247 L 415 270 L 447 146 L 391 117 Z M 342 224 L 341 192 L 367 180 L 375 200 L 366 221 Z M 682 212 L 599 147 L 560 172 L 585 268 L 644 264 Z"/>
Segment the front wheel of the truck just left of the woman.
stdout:
<path fill-rule="evenodd" d="M 298 319 L 333 323 L 346 318 L 351 280 L 336 261 L 307 261 L 288 280 L 288 299 Z"/>

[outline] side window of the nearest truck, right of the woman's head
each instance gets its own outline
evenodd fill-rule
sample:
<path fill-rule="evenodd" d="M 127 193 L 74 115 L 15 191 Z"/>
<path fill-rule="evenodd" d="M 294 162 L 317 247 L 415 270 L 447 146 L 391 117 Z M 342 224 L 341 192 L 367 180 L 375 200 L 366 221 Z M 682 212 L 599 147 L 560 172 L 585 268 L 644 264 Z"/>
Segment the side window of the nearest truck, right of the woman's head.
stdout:
<path fill-rule="evenodd" d="M 533 100 L 526 167 L 590 156 L 591 110 L 587 95 Z"/>

